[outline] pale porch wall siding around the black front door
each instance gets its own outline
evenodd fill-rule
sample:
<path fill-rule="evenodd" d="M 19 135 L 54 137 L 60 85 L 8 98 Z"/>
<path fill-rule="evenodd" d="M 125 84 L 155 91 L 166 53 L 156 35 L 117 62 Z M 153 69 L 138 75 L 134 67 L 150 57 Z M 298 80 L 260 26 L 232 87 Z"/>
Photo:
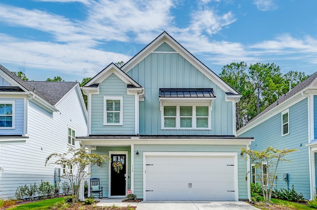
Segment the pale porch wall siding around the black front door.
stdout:
<path fill-rule="evenodd" d="M 131 149 L 130 147 L 102 147 L 98 146 L 96 150 L 92 150 L 92 153 L 99 154 L 99 155 L 107 155 L 109 156 L 109 151 L 128 151 L 128 189 L 131 189 Z M 101 167 L 95 165 L 91 168 L 92 174 L 90 175 L 91 178 L 100 178 L 100 186 L 103 188 L 103 197 L 109 196 L 109 164 L 111 162 L 106 161 L 101 163 Z M 96 195 L 95 195 L 96 196 Z"/>

